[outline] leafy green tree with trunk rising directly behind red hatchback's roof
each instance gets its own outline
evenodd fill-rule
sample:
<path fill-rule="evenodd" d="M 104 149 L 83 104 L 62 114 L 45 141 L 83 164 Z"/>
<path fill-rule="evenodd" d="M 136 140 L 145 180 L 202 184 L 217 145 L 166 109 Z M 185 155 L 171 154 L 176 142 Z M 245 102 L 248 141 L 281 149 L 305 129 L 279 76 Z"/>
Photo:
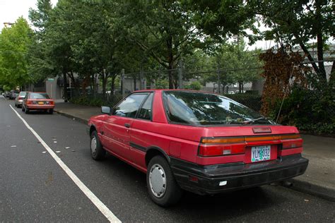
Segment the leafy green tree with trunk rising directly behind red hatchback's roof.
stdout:
<path fill-rule="evenodd" d="M 126 1 L 120 4 L 119 18 L 124 36 L 166 68 L 169 88 L 177 88 L 177 76 L 172 70 L 201 37 L 192 13 L 180 1 Z"/>

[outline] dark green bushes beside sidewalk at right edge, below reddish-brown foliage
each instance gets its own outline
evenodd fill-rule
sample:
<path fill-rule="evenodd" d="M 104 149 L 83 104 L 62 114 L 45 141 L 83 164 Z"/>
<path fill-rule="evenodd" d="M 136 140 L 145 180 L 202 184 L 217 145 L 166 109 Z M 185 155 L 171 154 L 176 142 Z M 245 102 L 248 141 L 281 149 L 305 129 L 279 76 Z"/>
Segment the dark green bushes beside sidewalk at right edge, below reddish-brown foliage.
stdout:
<path fill-rule="evenodd" d="M 270 114 L 276 119 L 281 101 Z M 315 134 L 335 133 L 334 90 L 308 90 L 296 86 L 283 102 L 279 123 L 297 126 Z"/>

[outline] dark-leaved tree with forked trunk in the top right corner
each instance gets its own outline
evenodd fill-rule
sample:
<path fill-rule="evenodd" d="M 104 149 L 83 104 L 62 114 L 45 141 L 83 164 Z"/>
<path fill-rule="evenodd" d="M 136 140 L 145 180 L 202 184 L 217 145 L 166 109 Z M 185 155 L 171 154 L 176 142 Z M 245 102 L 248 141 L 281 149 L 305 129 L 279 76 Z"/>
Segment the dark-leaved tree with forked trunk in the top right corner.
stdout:
<path fill-rule="evenodd" d="M 285 4 L 276 0 L 248 1 L 249 10 L 270 28 L 263 33 L 265 39 L 276 40 L 282 49 L 286 44 L 298 44 L 324 83 L 327 78 L 323 54 L 325 43 L 335 33 L 334 6 L 334 1 L 329 0 L 286 1 Z M 311 40 L 317 40 L 318 62 L 310 54 Z"/>

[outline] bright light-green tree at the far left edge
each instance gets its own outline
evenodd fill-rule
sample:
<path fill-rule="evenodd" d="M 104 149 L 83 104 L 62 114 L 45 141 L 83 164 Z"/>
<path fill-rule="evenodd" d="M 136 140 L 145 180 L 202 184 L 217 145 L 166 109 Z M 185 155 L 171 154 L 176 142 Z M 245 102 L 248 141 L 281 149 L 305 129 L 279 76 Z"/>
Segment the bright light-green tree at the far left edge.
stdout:
<path fill-rule="evenodd" d="M 0 35 L 0 82 L 11 88 L 31 82 L 28 76 L 28 47 L 32 43 L 33 31 L 27 21 L 20 17 Z"/>

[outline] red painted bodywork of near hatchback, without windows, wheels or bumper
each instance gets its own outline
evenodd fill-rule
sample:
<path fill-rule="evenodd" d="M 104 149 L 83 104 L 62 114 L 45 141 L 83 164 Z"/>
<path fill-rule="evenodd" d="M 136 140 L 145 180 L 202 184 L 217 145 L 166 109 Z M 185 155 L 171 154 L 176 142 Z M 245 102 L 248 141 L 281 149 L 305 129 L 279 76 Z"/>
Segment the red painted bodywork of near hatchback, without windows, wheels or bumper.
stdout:
<path fill-rule="evenodd" d="M 91 117 L 88 121 L 88 126 L 90 127 L 90 131 L 95 129 L 98 132 L 99 139 L 105 150 L 143 172 L 147 171 L 148 163 L 146 162 L 146 155 L 148 155 L 150 150 L 159 150 L 167 159 L 176 159 L 201 168 L 235 163 L 243 164 L 244 166 L 248 164 L 255 165 L 257 163 L 251 162 L 252 146 L 270 145 L 271 159 L 263 161 L 269 163 L 277 162 L 278 157 L 300 155 L 302 152 L 302 146 L 282 149 L 283 145 L 291 145 L 291 142 L 293 143 L 292 145 L 302 144 L 300 138 L 280 138 L 280 135 L 298 134 L 298 129 L 294 126 L 187 126 L 169 123 L 163 104 L 163 90 L 143 90 L 136 92 L 154 92 L 151 121 L 102 114 Z M 254 128 L 264 127 L 271 128 L 271 133 L 254 133 Z M 245 147 L 243 154 L 213 157 L 199 155 L 199 146 L 201 145 L 202 138 L 252 138 L 259 135 L 276 137 L 271 140 L 245 140 L 242 143 L 228 143 L 224 145 L 228 148 Z M 304 166 L 295 176 L 303 174 L 307 168 L 305 160 Z M 180 183 L 184 180 L 180 179 Z M 184 188 L 192 191 L 189 189 L 189 186 L 185 186 Z"/>

